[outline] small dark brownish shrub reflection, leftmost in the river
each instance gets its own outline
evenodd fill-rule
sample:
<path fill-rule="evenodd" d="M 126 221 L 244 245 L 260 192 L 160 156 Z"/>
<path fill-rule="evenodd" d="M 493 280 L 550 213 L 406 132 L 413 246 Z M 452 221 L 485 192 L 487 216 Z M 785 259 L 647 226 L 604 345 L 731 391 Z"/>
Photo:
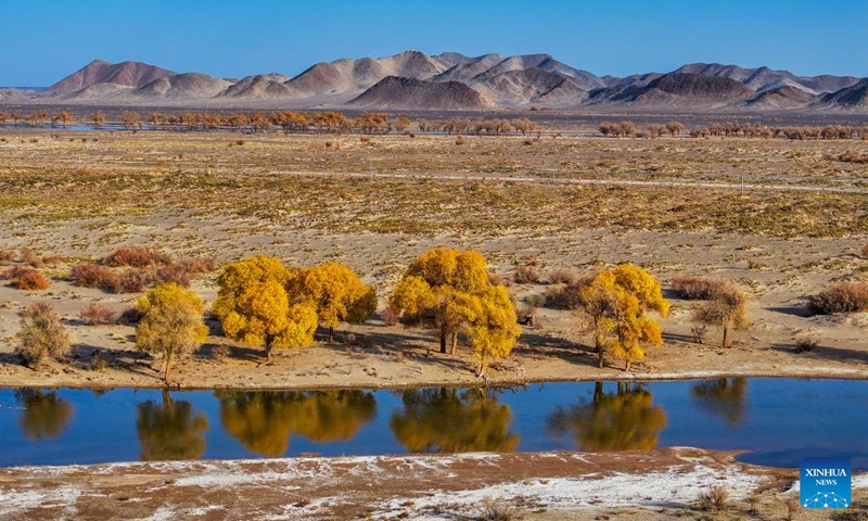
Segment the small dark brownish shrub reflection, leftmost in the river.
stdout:
<path fill-rule="evenodd" d="M 24 439 L 30 442 L 56 440 L 73 417 L 73 405 L 55 391 L 33 387 L 16 389 L 15 399 L 24 407 L 18 418 Z"/>

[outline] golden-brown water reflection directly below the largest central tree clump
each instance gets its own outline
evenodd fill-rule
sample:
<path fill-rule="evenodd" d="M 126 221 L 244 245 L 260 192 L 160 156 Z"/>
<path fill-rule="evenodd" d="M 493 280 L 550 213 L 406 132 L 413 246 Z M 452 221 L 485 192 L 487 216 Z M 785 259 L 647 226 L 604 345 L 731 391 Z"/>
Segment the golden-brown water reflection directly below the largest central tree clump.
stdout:
<path fill-rule="evenodd" d="M 404 410 L 390 427 L 411 453 L 511 452 L 520 436 L 509 431 L 512 411 L 478 389 L 403 391 Z"/>

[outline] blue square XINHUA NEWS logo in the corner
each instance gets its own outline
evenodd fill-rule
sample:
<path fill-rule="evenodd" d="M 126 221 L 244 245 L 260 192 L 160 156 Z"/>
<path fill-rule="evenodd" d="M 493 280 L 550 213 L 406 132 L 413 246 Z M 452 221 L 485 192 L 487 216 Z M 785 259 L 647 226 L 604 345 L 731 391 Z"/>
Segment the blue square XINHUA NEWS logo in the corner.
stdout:
<path fill-rule="evenodd" d="M 803 459 L 800 487 L 800 503 L 805 508 L 847 508 L 851 500 L 850 460 Z"/>

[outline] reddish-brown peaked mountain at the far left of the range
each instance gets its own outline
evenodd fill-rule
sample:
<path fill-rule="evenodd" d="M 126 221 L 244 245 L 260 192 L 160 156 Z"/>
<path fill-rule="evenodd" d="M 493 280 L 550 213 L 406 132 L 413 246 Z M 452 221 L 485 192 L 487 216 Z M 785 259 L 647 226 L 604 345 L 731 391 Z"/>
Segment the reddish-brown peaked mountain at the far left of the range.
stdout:
<path fill-rule="evenodd" d="M 108 63 L 94 60 L 48 88 L 49 92 L 74 92 L 95 84 L 141 87 L 151 81 L 177 74 L 167 68 L 141 62 Z"/>

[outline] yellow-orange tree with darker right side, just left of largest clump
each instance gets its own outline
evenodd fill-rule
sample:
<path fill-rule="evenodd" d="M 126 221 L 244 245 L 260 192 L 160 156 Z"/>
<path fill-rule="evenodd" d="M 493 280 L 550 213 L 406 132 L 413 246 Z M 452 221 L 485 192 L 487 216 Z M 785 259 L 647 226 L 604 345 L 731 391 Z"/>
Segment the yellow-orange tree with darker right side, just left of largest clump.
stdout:
<path fill-rule="evenodd" d="M 320 322 L 329 328 L 329 342 L 340 322 L 361 323 L 376 310 L 376 293 L 353 269 L 339 263 L 324 263 L 298 270 L 290 293 L 314 306 Z"/>

